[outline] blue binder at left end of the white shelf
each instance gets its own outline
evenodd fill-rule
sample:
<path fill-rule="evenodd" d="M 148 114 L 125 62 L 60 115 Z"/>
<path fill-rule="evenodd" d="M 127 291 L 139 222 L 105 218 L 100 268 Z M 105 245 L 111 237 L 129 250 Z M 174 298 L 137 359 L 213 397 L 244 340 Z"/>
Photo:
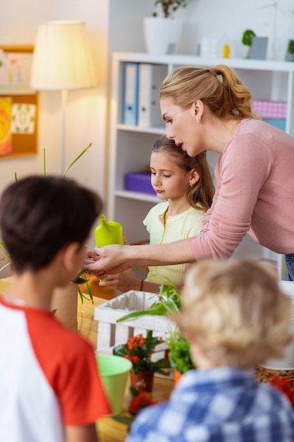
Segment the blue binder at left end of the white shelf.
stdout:
<path fill-rule="evenodd" d="M 138 63 L 125 63 L 123 85 L 123 124 L 136 126 L 139 91 Z"/>

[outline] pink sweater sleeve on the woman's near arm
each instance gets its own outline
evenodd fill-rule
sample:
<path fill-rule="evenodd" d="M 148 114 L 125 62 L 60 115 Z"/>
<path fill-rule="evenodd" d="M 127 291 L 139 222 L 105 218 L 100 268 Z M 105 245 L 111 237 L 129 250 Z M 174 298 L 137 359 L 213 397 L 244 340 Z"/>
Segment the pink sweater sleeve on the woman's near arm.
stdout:
<path fill-rule="evenodd" d="M 259 191 L 271 170 L 271 154 L 255 136 L 238 136 L 216 164 L 216 192 L 200 235 L 192 239 L 198 261 L 229 258 L 250 229 Z"/>

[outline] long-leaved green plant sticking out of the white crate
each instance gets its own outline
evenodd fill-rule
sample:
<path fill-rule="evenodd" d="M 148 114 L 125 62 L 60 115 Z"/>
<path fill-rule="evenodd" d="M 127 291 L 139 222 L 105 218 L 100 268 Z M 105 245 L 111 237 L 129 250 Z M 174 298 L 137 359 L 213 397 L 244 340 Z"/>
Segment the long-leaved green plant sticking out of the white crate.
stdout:
<path fill-rule="evenodd" d="M 127 321 L 128 319 L 138 318 L 145 315 L 159 315 L 166 316 L 168 313 L 177 313 L 180 310 L 180 292 L 177 287 L 169 280 L 169 285 L 163 284 L 157 294 L 157 301 L 154 301 L 151 307 L 146 310 L 130 311 L 117 322 Z"/>

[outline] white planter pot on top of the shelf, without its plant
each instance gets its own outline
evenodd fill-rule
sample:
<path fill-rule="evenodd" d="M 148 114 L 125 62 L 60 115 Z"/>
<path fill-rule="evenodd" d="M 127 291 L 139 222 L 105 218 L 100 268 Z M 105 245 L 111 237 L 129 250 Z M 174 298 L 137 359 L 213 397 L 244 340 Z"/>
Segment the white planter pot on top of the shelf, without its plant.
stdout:
<path fill-rule="evenodd" d="M 182 20 L 175 18 L 144 18 L 144 36 L 149 54 L 176 54 Z"/>

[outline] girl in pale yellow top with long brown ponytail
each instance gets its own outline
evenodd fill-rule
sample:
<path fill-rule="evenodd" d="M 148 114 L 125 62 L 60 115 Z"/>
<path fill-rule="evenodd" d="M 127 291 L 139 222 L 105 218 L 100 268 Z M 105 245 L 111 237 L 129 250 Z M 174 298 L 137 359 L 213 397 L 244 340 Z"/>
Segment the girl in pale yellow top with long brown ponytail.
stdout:
<path fill-rule="evenodd" d="M 150 157 L 151 183 L 161 203 L 143 220 L 150 244 L 166 244 L 200 233 L 205 213 L 212 205 L 214 184 L 206 153 L 189 157 L 166 136 L 157 140 Z M 131 270 L 109 275 L 101 286 L 128 292 L 130 289 L 157 293 L 161 284 L 183 283 L 185 264 L 139 268 L 147 275 L 136 278 Z"/>

